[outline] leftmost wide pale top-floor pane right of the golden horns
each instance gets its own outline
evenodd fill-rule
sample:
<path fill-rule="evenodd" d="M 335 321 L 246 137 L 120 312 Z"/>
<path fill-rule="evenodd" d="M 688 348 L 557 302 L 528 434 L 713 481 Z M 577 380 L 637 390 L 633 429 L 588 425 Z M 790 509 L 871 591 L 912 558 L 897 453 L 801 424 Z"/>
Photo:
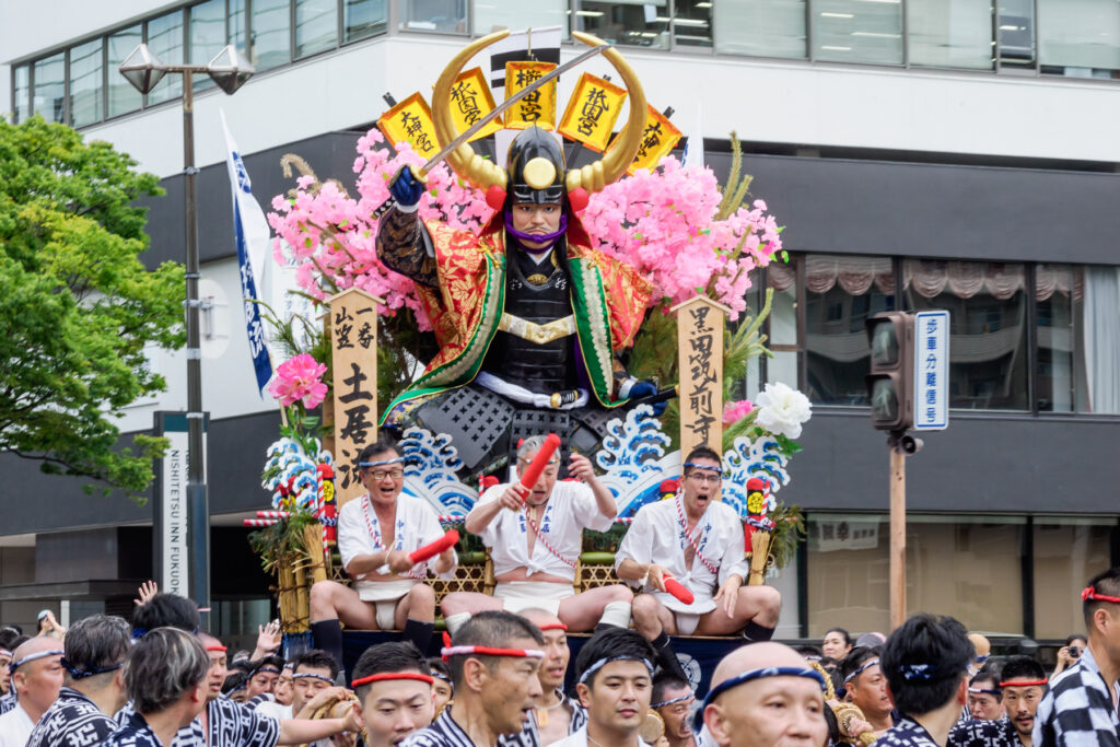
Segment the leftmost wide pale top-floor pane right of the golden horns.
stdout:
<path fill-rule="evenodd" d="M 804 59 L 805 0 L 716 0 L 716 52 Z"/>

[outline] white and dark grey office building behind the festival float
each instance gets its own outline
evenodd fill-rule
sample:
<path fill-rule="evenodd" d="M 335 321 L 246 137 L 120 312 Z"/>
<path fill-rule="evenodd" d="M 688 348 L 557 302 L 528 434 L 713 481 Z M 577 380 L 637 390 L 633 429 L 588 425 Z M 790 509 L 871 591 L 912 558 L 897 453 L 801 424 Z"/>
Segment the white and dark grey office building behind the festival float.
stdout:
<path fill-rule="evenodd" d="M 181 83 L 141 96 L 116 66 L 143 40 L 193 63 L 235 44 L 258 68 L 232 97 L 205 81 L 195 96 L 203 296 L 214 300 L 203 344 L 212 589 L 227 629 L 269 614 L 239 525 L 267 504 L 260 465 L 278 418 L 241 333 L 218 111 L 268 209 L 293 186 L 283 155 L 352 184 L 354 143 L 386 109 L 382 94 L 427 92 L 467 38 L 501 27 L 619 45 L 648 100 L 702 131 L 720 177 L 738 133 L 753 194 L 787 226 L 791 261 L 752 291 L 755 308 L 775 291 L 774 357 L 745 385 L 752 396 L 762 382 L 796 384 L 814 405 L 780 496 L 809 519 L 775 581 L 780 635 L 888 626 L 888 455 L 864 387 L 864 321 L 881 310 L 952 312 L 951 424 L 908 460 L 911 609 L 1064 638 L 1081 628 L 1083 582 L 1120 555 L 1111 0 L 45 0 L 0 12 L 0 108 L 71 123 L 164 178 L 151 265 L 184 252 Z M 566 41 L 561 56 L 577 52 Z M 181 354 L 153 352 L 152 365 L 169 389 L 134 403 L 123 431 L 185 408 Z M 0 523 L 0 619 L 34 619 L 39 599 L 68 599 L 73 614 L 127 608 L 151 572 L 151 504 L 88 497 L 13 458 L 0 475 L 25 496 Z"/>

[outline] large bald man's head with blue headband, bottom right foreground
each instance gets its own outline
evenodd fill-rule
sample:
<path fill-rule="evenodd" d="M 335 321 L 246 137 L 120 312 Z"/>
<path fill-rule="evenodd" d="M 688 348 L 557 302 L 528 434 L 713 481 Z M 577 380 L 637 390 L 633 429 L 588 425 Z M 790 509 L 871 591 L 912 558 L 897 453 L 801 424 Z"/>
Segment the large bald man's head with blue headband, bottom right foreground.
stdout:
<path fill-rule="evenodd" d="M 736 648 L 716 666 L 711 689 L 747 672 L 768 667 L 805 670 L 805 660 L 781 643 L 755 643 Z M 766 703 L 780 700 L 780 715 Z M 703 721 L 720 747 L 762 747 L 804 744 L 820 747 L 828 738 L 824 697 L 820 682 L 796 674 L 765 675 L 732 685 L 703 711 Z"/>

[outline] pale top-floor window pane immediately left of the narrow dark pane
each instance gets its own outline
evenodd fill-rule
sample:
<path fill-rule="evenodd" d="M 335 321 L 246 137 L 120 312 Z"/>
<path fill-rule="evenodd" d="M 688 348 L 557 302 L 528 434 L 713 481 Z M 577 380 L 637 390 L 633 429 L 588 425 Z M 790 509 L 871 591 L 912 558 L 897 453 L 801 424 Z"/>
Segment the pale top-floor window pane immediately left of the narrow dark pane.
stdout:
<path fill-rule="evenodd" d="M 991 2 L 908 0 L 909 60 L 914 65 L 991 69 Z"/>

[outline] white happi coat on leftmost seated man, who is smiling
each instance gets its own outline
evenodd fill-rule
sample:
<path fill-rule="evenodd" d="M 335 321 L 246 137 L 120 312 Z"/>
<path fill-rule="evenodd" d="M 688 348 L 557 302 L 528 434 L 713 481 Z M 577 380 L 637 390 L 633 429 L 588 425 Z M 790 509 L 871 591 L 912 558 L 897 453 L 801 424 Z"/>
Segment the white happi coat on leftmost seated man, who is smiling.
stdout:
<path fill-rule="evenodd" d="M 421 498 L 405 493 L 396 496 L 396 526 L 393 527 L 393 550 L 412 552 L 417 548 L 422 548 L 429 542 L 435 542 L 444 536 L 444 527 L 440 526 L 439 519 L 431 505 Z M 382 530 L 377 521 L 377 513 L 370 504 L 370 496 L 358 496 L 348 501 L 338 510 L 338 552 L 343 559 L 343 568 L 349 566 L 357 555 L 370 555 L 385 549 L 382 544 Z M 402 573 L 402 579 L 410 579 L 413 583 L 419 583 L 428 575 L 428 563 L 435 566 L 437 558 L 424 561 L 416 566 L 411 571 Z M 458 555 L 455 563 L 446 573 L 438 573 L 444 580 L 455 578 L 455 567 L 458 564 Z M 377 573 L 390 573 L 389 564 L 384 564 L 376 570 Z M 435 572 L 435 571 L 433 571 Z M 358 598 L 374 599 L 383 595 L 376 594 L 379 586 L 385 583 L 399 583 L 395 580 L 368 581 L 361 578 L 354 583 Z M 403 595 L 401 595 L 403 596 Z"/>

